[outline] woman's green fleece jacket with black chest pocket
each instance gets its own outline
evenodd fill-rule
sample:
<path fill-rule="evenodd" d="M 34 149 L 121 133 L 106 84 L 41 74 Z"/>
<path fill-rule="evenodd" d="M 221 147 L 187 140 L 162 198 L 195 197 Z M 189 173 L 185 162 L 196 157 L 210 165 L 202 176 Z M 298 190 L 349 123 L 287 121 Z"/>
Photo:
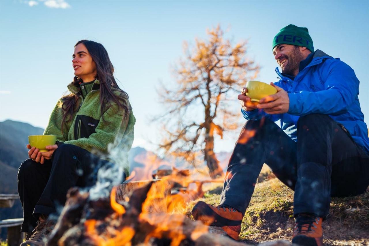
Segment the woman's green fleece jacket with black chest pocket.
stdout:
<path fill-rule="evenodd" d="M 50 115 L 44 135 L 55 135 L 57 141 L 61 143 L 73 144 L 89 152 L 98 153 L 106 160 L 119 162 L 124 165 L 128 177 L 128 151 L 132 147 L 136 122 L 128 99 L 126 100 L 130 110 L 128 121 L 123 120 L 125 112 L 119 111 L 117 105 L 108 107 L 103 120 L 100 113 L 99 80 L 81 83 L 80 86 L 70 83 L 68 89 L 73 94 L 81 92 L 72 120 L 64 124 L 62 134 L 63 99 L 59 99 Z M 122 93 L 118 89 L 113 91 L 115 95 Z"/>

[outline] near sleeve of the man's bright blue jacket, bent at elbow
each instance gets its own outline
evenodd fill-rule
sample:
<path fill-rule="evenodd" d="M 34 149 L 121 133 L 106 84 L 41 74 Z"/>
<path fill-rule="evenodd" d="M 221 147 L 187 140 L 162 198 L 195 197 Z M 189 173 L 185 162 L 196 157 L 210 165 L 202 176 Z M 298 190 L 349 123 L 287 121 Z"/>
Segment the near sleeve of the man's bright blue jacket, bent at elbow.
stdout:
<path fill-rule="evenodd" d="M 323 81 L 325 79 L 324 90 L 289 93 L 289 114 L 340 115 L 347 112 L 359 93 L 359 80 L 354 70 L 344 62 L 336 61 L 332 62 L 321 76 Z"/>

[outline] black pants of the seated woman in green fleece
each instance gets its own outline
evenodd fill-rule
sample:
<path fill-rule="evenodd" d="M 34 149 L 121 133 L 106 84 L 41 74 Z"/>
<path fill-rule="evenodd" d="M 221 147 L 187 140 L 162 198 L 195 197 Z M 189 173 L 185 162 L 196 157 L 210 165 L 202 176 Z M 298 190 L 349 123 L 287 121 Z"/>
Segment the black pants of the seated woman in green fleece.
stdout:
<path fill-rule="evenodd" d="M 61 144 L 44 164 L 25 160 L 18 170 L 18 193 L 23 207 L 22 232 L 31 232 L 40 214 L 49 215 L 62 208 L 71 187 L 90 187 L 99 169 L 113 163 L 72 144 Z M 125 175 L 122 175 L 122 182 Z"/>

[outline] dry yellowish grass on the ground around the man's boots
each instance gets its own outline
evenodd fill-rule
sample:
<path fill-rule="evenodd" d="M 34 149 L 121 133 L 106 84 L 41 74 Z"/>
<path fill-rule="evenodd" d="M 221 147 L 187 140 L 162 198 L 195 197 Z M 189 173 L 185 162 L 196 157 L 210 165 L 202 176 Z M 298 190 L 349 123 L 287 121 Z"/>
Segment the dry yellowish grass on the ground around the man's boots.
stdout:
<path fill-rule="evenodd" d="M 203 198 L 188 204 L 186 215 L 197 201 L 217 205 L 221 186 L 213 187 Z M 291 240 L 294 192 L 277 179 L 259 182 L 242 220 L 240 240 L 257 244 L 265 241 Z M 329 245 L 367 245 L 369 243 L 369 189 L 356 197 L 332 198 L 330 214 L 323 222 L 324 243 Z"/>

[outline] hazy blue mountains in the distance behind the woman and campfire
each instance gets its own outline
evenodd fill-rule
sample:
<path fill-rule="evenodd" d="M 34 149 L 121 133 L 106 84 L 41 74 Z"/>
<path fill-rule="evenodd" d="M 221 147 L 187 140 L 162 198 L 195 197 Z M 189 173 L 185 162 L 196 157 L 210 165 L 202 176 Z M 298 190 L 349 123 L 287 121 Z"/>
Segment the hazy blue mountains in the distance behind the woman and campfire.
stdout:
<path fill-rule="evenodd" d="M 18 167 L 28 158 L 26 145 L 29 135 L 42 135 L 44 129 L 28 123 L 6 120 L 0 122 L 0 192 L 18 194 Z M 226 169 L 230 153 L 219 153 L 221 167 Z M 142 147 L 131 148 L 128 153 L 131 180 L 146 180 L 152 178 L 152 173 L 158 169 L 193 169 L 184 161 L 173 158 L 159 158 L 155 153 Z M 132 178 L 134 176 L 134 178 Z M 1 208 L 0 218 L 22 218 L 22 208 L 17 201 L 13 208 Z M 6 230 L 1 230 L 1 238 L 6 237 Z"/>

